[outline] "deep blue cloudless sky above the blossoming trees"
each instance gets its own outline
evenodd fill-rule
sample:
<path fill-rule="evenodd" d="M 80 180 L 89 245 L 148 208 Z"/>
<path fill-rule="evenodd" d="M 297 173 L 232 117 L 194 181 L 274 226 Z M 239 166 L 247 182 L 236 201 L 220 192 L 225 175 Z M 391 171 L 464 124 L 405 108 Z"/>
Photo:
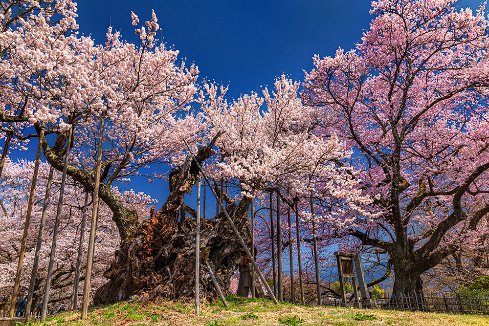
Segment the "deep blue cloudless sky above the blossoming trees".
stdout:
<path fill-rule="evenodd" d="M 479 4 L 479 0 L 459 3 L 473 9 Z M 324 57 L 334 55 L 338 47 L 354 47 L 372 20 L 368 0 L 83 0 L 78 2 L 77 21 L 80 32 L 91 34 L 96 43 L 105 42 L 110 24 L 136 42 L 131 11 L 145 22 L 152 9 L 164 42 L 174 44 L 181 57 L 199 66 L 200 81 L 206 77 L 229 83 L 230 98 L 272 84 L 282 73 L 301 81 L 303 69 L 312 68 L 314 54 Z M 22 156 L 33 160 L 36 146 L 31 142 Z M 134 178 L 129 187 L 161 204 L 166 199 L 163 181 L 148 187 L 146 178 Z M 207 207 L 212 213 L 215 205 Z"/>

